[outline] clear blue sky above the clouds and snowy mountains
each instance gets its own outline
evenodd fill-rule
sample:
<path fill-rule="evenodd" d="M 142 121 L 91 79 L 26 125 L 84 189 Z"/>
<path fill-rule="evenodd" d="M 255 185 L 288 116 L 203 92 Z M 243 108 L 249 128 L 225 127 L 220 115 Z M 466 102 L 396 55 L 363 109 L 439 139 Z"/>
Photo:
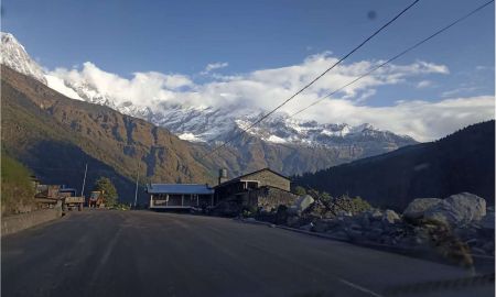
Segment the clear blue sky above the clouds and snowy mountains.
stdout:
<path fill-rule="evenodd" d="M 214 79 L 198 75 L 212 63 L 226 63 L 215 73 L 233 76 L 301 65 L 325 52 L 339 57 L 411 2 L 4 0 L 2 31 L 48 69 L 90 62 L 127 79 L 158 72 L 203 84 Z M 484 2 L 420 1 L 345 65 L 386 59 Z M 379 84 L 366 105 L 494 96 L 494 28 L 490 4 L 396 62 L 443 65 L 448 73 Z"/>

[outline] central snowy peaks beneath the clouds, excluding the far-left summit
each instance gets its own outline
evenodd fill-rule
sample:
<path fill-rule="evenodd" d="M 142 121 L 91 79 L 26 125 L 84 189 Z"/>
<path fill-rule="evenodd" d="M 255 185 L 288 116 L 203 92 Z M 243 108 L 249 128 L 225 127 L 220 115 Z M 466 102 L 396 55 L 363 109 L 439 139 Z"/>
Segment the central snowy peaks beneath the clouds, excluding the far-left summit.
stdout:
<path fill-rule="evenodd" d="M 230 109 L 174 106 L 169 107 L 166 112 L 153 113 L 150 110 L 145 119 L 168 128 L 183 140 L 212 142 L 224 141 L 233 130 L 247 130 L 261 114 L 261 110 L 245 109 L 235 112 Z M 248 130 L 248 133 L 271 143 L 305 146 L 335 147 L 365 140 L 388 143 L 414 142 L 409 136 L 381 131 L 367 123 L 357 127 L 346 123 L 321 124 L 315 121 L 295 120 L 282 112 L 269 117 Z"/>

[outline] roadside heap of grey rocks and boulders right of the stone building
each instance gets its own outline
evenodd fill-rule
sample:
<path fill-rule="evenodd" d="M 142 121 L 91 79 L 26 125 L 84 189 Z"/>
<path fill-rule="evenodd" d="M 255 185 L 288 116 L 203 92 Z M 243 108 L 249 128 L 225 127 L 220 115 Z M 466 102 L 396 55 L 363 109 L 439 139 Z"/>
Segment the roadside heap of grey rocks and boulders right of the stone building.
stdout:
<path fill-rule="evenodd" d="M 473 194 L 418 198 L 402 215 L 390 209 L 357 211 L 346 199 L 333 205 L 309 197 L 279 209 L 276 223 L 355 242 L 435 251 L 467 265 L 470 254 L 494 256 L 494 208 L 486 209 L 486 201 Z"/>

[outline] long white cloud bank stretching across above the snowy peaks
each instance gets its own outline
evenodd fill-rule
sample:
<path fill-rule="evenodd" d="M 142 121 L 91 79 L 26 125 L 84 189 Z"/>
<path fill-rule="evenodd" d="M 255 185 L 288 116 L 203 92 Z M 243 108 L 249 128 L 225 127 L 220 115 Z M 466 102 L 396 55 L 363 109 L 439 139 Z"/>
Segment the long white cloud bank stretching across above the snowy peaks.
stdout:
<path fill-rule="evenodd" d="M 229 76 L 212 73 L 208 76 L 209 80 L 202 84 L 181 74 L 134 73 L 128 79 L 101 70 L 91 63 L 85 63 L 79 69 L 58 68 L 51 75 L 76 85 L 86 81 L 99 92 L 115 98 L 116 103 L 131 101 L 137 106 L 152 109 L 166 108 L 168 105 L 184 105 L 269 110 L 336 61 L 336 57 L 326 52 L 309 56 L 301 64 L 287 67 Z M 284 106 L 282 111 L 293 113 L 381 63 L 384 61 L 360 61 L 339 65 Z M 227 63 L 214 63 L 207 65 L 205 72 L 209 73 L 227 66 Z M 493 119 L 494 97 L 456 98 L 439 102 L 403 100 L 389 107 L 365 105 L 380 86 L 407 85 L 413 77 L 423 78 L 425 75 L 448 75 L 449 73 L 445 65 L 423 61 L 407 65 L 389 65 L 344 88 L 339 94 L 335 94 L 328 100 L 324 100 L 300 116 L 304 120 L 320 122 L 351 124 L 369 122 L 380 129 L 408 134 L 420 141 L 443 136 L 464 124 Z M 427 84 L 422 81 L 419 85 Z"/>

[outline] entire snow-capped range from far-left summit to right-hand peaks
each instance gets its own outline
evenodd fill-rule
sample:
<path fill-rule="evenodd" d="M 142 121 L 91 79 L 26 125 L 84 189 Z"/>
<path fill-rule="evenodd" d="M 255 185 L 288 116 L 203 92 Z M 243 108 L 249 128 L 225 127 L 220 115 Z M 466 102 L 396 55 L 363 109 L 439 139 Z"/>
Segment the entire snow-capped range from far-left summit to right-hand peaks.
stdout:
<path fill-rule="evenodd" d="M 185 107 L 160 102 L 153 106 L 137 106 L 129 98 L 112 98 L 100 91 L 90 81 L 61 79 L 43 72 L 9 33 L 1 34 L 1 64 L 34 77 L 48 87 L 73 98 L 110 107 L 123 114 L 144 119 L 164 127 L 179 138 L 191 142 L 223 142 L 233 130 L 246 130 L 262 113 L 261 109 L 234 109 L 213 107 Z M 279 112 L 248 131 L 249 134 L 274 144 L 293 144 L 311 147 L 344 147 L 355 143 L 377 142 L 384 151 L 414 143 L 409 136 L 396 135 L 375 129 L 370 124 L 352 127 L 346 123 L 317 123 L 300 121 Z"/>

